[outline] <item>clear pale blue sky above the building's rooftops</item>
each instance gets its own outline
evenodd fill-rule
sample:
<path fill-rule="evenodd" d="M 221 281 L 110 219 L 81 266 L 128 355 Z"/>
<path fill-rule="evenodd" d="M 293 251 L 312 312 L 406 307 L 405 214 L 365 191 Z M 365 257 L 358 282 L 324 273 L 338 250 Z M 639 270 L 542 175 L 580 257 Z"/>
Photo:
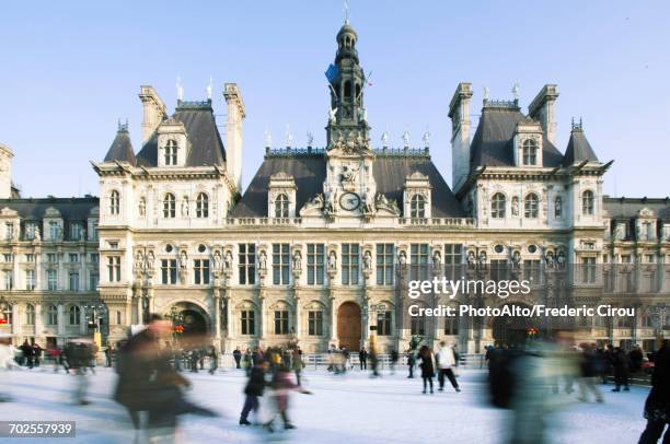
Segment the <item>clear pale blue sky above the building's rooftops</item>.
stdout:
<path fill-rule="evenodd" d="M 263 161 L 264 133 L 284 145 L 307 132 L 323 145 L 330 96 L 324 71 L 335 57 L 342 0 L 4 2 L 0 7 L 0 142 L 14 152 L 24 197 L 97 195 L 90 161 L 101 161 L 117 119 L 141 144 L 141 84 L 170 112 L 176 78 L 185 100 L 235 82 L 246 106 L 243 186 Z M 366 90 L 371 138 L 412 144 L 430 131 L 430 152 L 451 184 L 449 101 L 461 81 L 520 104 L 558 84 L 557 145 L 582 118 L 603 162 L 611 196 L 670 195 L 670 2 L 350 0 L 349 19 L 372 86 Z M 474 126 L 473 126 L 474 135 Z"/>

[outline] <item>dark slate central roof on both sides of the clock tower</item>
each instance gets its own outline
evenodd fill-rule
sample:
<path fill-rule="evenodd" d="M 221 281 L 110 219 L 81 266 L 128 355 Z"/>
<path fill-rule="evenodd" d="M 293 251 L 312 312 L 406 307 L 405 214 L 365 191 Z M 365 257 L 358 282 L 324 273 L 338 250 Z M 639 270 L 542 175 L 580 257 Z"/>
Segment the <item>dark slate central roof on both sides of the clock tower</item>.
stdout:
<path fill-rule="evenodd" d="M 327 159 L 323 150 L 282 151 L 265 155 L 265 160 L 242 199 L 235 206 L 233 218 L 265 218 L 268 214 L 267 192 L 270 176 L 284 172 L 296 180 L 296 210 L 315 195 L 323 192 Z M 419 154 L 420 153 L 420 154 Z M 376 151 L 372 166 L 377 191 L 396 200 L 403 211 L 405 178 L 418 172 L 428 177 L 432 191 L 434 218 L 464 218 L 465 211 L 424 150 Z"/>

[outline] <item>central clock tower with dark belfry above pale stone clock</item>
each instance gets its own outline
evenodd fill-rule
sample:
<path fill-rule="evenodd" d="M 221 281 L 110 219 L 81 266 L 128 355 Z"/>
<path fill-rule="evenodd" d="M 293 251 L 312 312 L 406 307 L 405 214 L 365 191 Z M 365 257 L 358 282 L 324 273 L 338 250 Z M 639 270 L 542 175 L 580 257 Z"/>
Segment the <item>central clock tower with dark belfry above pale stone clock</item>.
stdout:
<path fill-rule="evenodd" d="M 376 213 L 374 152 L 363 105 L 366 75 L 358 61 L 358 35 L 348 20 L 337 33 L 337 54 L 326 77 L 331 90 L 327 132 L 327 174 L 323 184 L 324 214 L 337 218 Z"/>

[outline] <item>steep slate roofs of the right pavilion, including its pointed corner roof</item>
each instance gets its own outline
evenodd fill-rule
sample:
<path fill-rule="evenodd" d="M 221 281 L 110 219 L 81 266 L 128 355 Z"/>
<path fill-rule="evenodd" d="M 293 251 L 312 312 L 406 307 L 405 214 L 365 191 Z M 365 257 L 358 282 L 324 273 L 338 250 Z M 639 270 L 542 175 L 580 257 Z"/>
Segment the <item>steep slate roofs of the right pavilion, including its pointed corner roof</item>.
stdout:
<path fill-rule="evenodd" d="M 516 102 L 488 102 L 482 108 L 470 151 L 470 166 L 516 166 L 513 153 L 515 129 L 528 117 Z M 563 154 L 542 136 L 542 166 L 558 166 Z"/>

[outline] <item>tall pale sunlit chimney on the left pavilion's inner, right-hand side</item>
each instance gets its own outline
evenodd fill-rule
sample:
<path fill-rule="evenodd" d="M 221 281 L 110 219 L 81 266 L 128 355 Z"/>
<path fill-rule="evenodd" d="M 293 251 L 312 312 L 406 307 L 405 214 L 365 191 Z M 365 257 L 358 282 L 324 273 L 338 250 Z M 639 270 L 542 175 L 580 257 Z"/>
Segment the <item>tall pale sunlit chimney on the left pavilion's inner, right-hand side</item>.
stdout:
<path fill-rule="evenodd" d="M 226 168 L 242 191 L 242 120 L 246 117 L 244 102 L 236 83 L 226 83 L 223 97 L 228 104 L 226 120 Z"/>

